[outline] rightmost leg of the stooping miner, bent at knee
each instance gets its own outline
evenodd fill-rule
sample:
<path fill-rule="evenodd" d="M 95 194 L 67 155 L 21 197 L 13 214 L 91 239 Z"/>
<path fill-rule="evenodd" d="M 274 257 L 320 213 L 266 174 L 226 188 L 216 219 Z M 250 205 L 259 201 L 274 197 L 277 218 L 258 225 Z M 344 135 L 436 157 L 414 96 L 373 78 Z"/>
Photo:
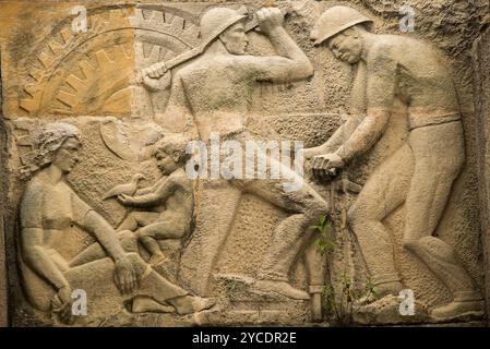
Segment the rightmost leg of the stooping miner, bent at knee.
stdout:
<path fill-rule="evenodd" d="M 432 236 L 463 166 L 461 125 L 453 122 L 414 130 L 410 144 L 416 155 L 416 170 L 407 198 L 404 246 L 426 263 L 451 290 L 455 302 L 481 300 L 453 248 Z M 439 314 L 437 310 L 434 312 L 437 316 L 445 317 L 457 311 L 451 308 L 443 309 Z"/>

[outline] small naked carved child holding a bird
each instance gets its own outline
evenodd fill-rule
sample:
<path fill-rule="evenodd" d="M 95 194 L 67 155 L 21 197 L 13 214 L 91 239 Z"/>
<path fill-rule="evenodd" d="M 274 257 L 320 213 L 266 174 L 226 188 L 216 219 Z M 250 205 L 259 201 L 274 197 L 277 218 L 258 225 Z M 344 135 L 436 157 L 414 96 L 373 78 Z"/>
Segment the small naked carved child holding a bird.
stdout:
<path fill-rule="evenodd" d="M 190 155 L 186 154 L 189 140 L 171 134 L 154 145 L 156 159 L 163 177 L 152 186 L 141 189 L 134 196 L 121 194 L 118 201 L 126 206 L 154 208 L 165 204 L 162 213 L 132 212 L 118 230 L 132 230 L 150 252 L 153 265 L 163 263 L 166 256 L 157 240 L 181 239 L 190 230 L 194 208 L 192 180 L 184 166 Z"/>

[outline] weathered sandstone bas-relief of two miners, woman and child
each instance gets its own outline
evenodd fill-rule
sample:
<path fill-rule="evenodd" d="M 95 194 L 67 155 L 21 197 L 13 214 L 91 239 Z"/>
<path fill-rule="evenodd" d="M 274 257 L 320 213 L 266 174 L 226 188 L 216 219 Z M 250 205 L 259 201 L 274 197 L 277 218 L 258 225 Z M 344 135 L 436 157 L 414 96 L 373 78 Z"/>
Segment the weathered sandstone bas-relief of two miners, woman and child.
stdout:
<path fill-rule="evenodd" d="M 0 35 L 12 324 L 327 324 L 343 277 L 379 291 L 358 324 L 483 315 L 469 92 L 432 28 L 331 1 L 81 2 L 85 33 L 61 2 L 38 11 L 46 31 Z M 304 142 L 307 173 L 190 179 L 187 146 L 213 134 Z M 309 229 L 325 214 L 328 257 Z"/>

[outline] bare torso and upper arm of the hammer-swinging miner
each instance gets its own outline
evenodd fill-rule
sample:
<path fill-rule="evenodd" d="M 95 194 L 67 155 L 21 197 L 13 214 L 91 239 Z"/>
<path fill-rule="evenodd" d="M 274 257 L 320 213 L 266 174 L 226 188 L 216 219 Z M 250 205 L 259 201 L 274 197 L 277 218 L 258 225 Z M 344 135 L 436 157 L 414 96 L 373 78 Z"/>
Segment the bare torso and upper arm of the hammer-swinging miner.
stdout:
<path fill-rule="evenodd" d="M 241 131 L 255 83 L 286 82 L 289 76 L 298 80 L 302 75 L 296 71 L 301 69 L 300 62 L 280 56 L 206 52 L 176 73 L 167 120 L 189 123 L 193 119 L 202 140 L 208 140 L 211 132 Z"/>

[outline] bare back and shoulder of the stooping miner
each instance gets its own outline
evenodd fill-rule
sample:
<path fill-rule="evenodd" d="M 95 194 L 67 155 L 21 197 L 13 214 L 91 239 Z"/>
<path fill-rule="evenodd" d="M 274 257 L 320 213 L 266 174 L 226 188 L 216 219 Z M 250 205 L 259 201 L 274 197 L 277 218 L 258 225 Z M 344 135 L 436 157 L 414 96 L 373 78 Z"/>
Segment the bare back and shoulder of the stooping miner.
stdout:
<path fill-rule="evenodd" d="M 410 113 L 458 111 L 453 81 L 439 53 L 403 36 L 380 35 L 367 58 L 368 107 L 383 108 L 401 98 Z M 393 94 L 393 95 L 392 95 Z"/>

